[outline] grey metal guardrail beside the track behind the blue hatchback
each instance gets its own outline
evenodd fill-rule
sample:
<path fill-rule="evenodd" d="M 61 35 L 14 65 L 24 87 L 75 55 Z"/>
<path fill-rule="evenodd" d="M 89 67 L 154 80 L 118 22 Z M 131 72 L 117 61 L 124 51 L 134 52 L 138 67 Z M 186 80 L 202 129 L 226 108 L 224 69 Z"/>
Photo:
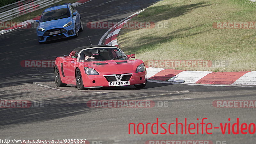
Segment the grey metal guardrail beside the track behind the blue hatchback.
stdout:
<path fill-rule="evenodd" d="M 23 14 L 29 13 L 29 12 L 33 12 L 36 11 L 40 8 L 44 8 L 47 7 L 51 4 L 60 2 L 61 0 L 23 0 L 22 3 L 20 1 L 20 3 L 16 2 L 13 4 L 9 4 L 4 6 L 5 8 L 11 8 L 12 6 L 15 6 L 15 8 L 9 9 L 7 11 L 1 12 L 0 13 L 0 21 L 7 21 L 7 20 L 11 20 L 15 17 L 21 16 Z M 27 3 L 28 2 L 28 3 Z M 20 4 L 17 6 L 17 4 Z M 3 10 L 4 8 L 1 7 L 0 10 Z"/>

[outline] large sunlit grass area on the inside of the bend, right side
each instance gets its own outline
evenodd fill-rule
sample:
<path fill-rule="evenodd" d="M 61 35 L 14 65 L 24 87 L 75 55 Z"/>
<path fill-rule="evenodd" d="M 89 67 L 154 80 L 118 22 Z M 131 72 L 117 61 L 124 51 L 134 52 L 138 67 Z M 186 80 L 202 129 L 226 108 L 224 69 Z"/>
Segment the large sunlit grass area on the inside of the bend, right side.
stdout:
<path fill-rule="evenodd" d="M 255 21 L 249 0 L 163 0 L 131 21 L 167 22 L 168 28 L 122 29 L 118 44 L 146 60 L 226 60 L 227 67 L 172 67 L 200 71 L 255 71 L 256 29 L 215 29 L 214 22 Z M 130 22 L 131 22 L 130 21 Z"/>

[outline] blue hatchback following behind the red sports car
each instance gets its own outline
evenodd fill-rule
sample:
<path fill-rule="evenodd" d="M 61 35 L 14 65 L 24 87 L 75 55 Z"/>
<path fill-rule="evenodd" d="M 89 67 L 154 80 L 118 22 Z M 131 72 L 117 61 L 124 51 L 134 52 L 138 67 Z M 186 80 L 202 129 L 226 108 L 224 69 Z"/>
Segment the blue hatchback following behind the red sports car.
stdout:
<path fill-rule="evenodd" d="M 36 29 L 39 43 L 70 36 L 78 37 L 78 31 L 83 31 L 80 14 L 70 3 L 45 9 L 41 19 L 36 22 L 39 23 Z"/>

